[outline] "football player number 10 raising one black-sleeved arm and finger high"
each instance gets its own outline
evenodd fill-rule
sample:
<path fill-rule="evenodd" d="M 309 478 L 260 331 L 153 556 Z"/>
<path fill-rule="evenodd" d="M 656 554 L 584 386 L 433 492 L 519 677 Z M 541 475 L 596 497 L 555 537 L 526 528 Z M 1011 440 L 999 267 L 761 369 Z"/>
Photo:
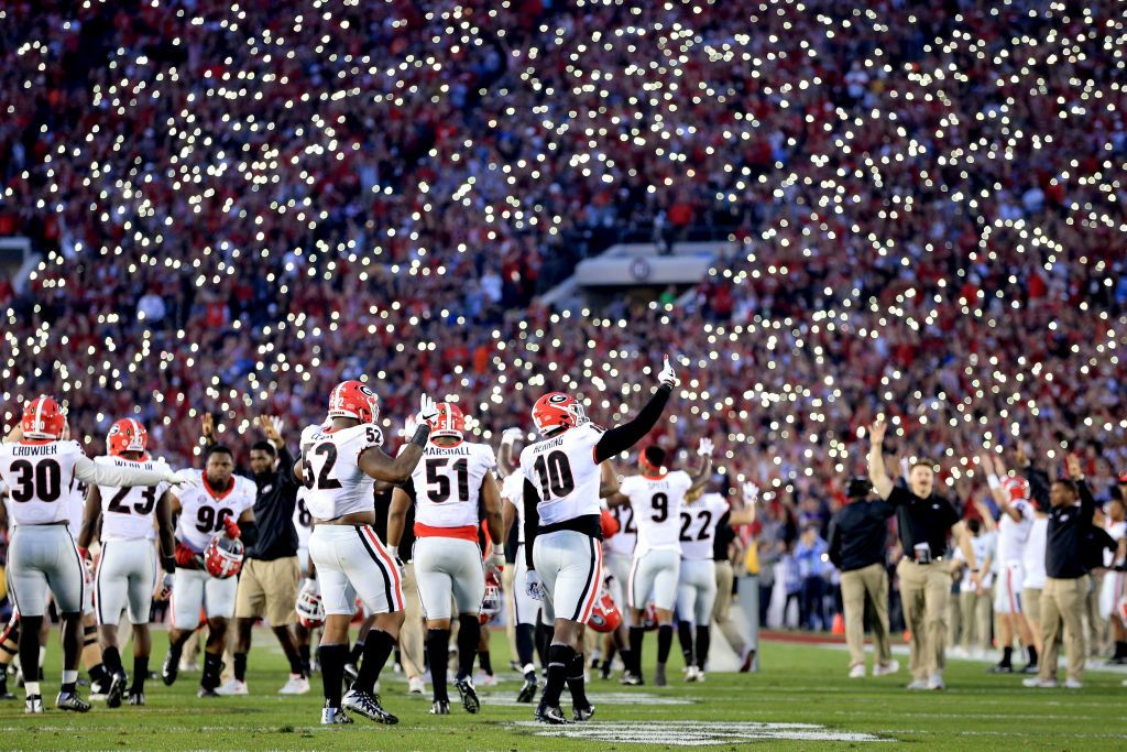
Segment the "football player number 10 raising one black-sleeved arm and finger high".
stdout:
<path fill-rule="evenodd" d="M 526 587 L 542 601 L 544 616 L 554 626 L 548 682 L 535 713 L 542 723 L 568 723 L 559 708 L 565 682 L 575 719 L 586 720 L 594 713 L 584 690 L 579 649 L 603 580 L 598 466 L 633 446 L 657 425 L 677 382 L 668 357 L 658 382 L 641 412 L 610 431 L 583 422 L 578 402 L 558 391 L 544 395 L 532 408 L 542 439 L 525 446 L 520 461 Z"/>

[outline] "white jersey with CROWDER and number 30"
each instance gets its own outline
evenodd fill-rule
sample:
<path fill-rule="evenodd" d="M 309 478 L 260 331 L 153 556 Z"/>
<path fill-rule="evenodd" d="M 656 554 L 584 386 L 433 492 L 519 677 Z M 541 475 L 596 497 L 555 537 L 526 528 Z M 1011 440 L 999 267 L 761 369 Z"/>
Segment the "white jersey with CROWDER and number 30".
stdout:
<path fill-rule="evenodd" d="M 21 525 L 70 522 L 79 485 L 74 467 L 85 459 L 77 441 L 0 444 L 0 477 L 8 486 L 10 520 Z"/>

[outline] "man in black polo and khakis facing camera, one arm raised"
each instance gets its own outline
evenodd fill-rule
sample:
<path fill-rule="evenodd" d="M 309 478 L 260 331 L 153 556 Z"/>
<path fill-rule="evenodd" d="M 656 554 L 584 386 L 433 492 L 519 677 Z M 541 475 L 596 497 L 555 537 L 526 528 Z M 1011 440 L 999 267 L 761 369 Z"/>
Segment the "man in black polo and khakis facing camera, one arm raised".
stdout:
<path fill-rule="evenodd" d="M 947 607 L 951 598 L 951 574 L 947 551 L 948 531 L 953 533 L 967 558 L 970 581 L 982 589 L 978 561 L 966 525 L 951 503 L 934 493 L 932 462 L 915 460 L 908 470 L 907 487 L 893 486 L 885 471 L 882 444 L 887 426 L 878 418 L 869 426 L 869 480 L 877 496 L 896 510 L 904 558 L 896 572 L 900 578 L 904 618 L 912 632 L 908 689 L 943 689 Z"/>

